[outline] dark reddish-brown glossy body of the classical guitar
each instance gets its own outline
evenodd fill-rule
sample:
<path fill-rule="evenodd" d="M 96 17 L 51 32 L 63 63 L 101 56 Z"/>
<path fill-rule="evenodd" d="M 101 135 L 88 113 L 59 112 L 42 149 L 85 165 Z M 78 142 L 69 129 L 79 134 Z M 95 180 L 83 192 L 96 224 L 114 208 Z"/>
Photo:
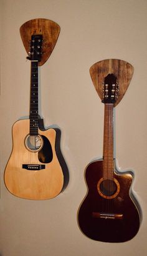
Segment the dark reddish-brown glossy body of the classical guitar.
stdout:
<path fill-rule="evenodd" d="M 78 211 L 78 224 L 87 237 L 101 242 L 126 242 L 140 227 L 140 208 L 130 187 L 130 172 L 114 172 L 117 192 L 111 199 L 104 198 L 98 190 L 103 177 L 103 160 L 93 161 L 85 170 L 88 192 Z M 118 194 L 117 194 L 118 193 Z M 133 201 L 134 200 L 134 201 Z"/>

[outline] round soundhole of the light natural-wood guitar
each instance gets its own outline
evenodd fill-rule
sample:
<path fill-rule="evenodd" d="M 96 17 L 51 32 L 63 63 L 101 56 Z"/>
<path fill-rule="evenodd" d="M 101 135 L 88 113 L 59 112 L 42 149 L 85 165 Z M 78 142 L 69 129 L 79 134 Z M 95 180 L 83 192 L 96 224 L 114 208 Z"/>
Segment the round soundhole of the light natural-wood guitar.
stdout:
<path fill-rule="evenodd" d="M 27 135 L 25 140 L 26 148 L 30 151 L 39 151 L 43 144 L 44 143 L 40 135 Z"/>

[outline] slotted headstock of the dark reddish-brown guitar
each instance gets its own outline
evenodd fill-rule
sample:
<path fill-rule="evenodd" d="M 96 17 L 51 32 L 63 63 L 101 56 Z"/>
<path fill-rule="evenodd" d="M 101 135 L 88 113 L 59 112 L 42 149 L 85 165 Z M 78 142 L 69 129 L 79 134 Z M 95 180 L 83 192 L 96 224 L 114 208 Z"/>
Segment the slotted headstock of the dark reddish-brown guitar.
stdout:
<path fill-rule="evenodd" d="M 108 74 L 103 84 L 103 100 L 105 104 L 114 104 L 118 99 L 119 84 L 114 74 Z"/>

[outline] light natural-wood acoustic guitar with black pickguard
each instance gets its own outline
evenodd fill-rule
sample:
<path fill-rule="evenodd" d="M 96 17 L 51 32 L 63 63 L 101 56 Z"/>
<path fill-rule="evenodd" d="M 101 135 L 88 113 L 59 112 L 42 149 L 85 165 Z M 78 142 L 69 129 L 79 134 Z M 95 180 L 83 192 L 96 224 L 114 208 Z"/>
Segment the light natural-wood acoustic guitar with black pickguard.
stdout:
<path fill-rule="evenodd" d="M 42 35 L 31 38 L 31 94 L 29 119 L 12 126 L 12 152 L 6 165 L 7 189 L 21 198 L 44 200 L 57 196 L 64 187 L 59 161 L 59 129 L 45 130 L 39 116 L 38 65 L 42 58 Z"/>

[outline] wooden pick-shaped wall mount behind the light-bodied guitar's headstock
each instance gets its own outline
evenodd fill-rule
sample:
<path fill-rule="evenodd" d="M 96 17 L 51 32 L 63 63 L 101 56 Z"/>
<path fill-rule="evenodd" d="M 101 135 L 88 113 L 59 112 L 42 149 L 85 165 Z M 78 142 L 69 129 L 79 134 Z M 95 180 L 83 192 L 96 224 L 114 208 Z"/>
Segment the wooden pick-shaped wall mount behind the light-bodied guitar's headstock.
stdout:
<path fill-rule="evenodd" d="M 60 33 L 60 26 L 50 19 L 31 19 L 22 24 L 20 28 L 21 39 L 29 55 L 30 40 L 32 34 L 42 34 L 42 59 L 39 62 L 39 66 L 42 66 L 49 58 L 52 50 L 55 47 L 57 39 Z"/>

